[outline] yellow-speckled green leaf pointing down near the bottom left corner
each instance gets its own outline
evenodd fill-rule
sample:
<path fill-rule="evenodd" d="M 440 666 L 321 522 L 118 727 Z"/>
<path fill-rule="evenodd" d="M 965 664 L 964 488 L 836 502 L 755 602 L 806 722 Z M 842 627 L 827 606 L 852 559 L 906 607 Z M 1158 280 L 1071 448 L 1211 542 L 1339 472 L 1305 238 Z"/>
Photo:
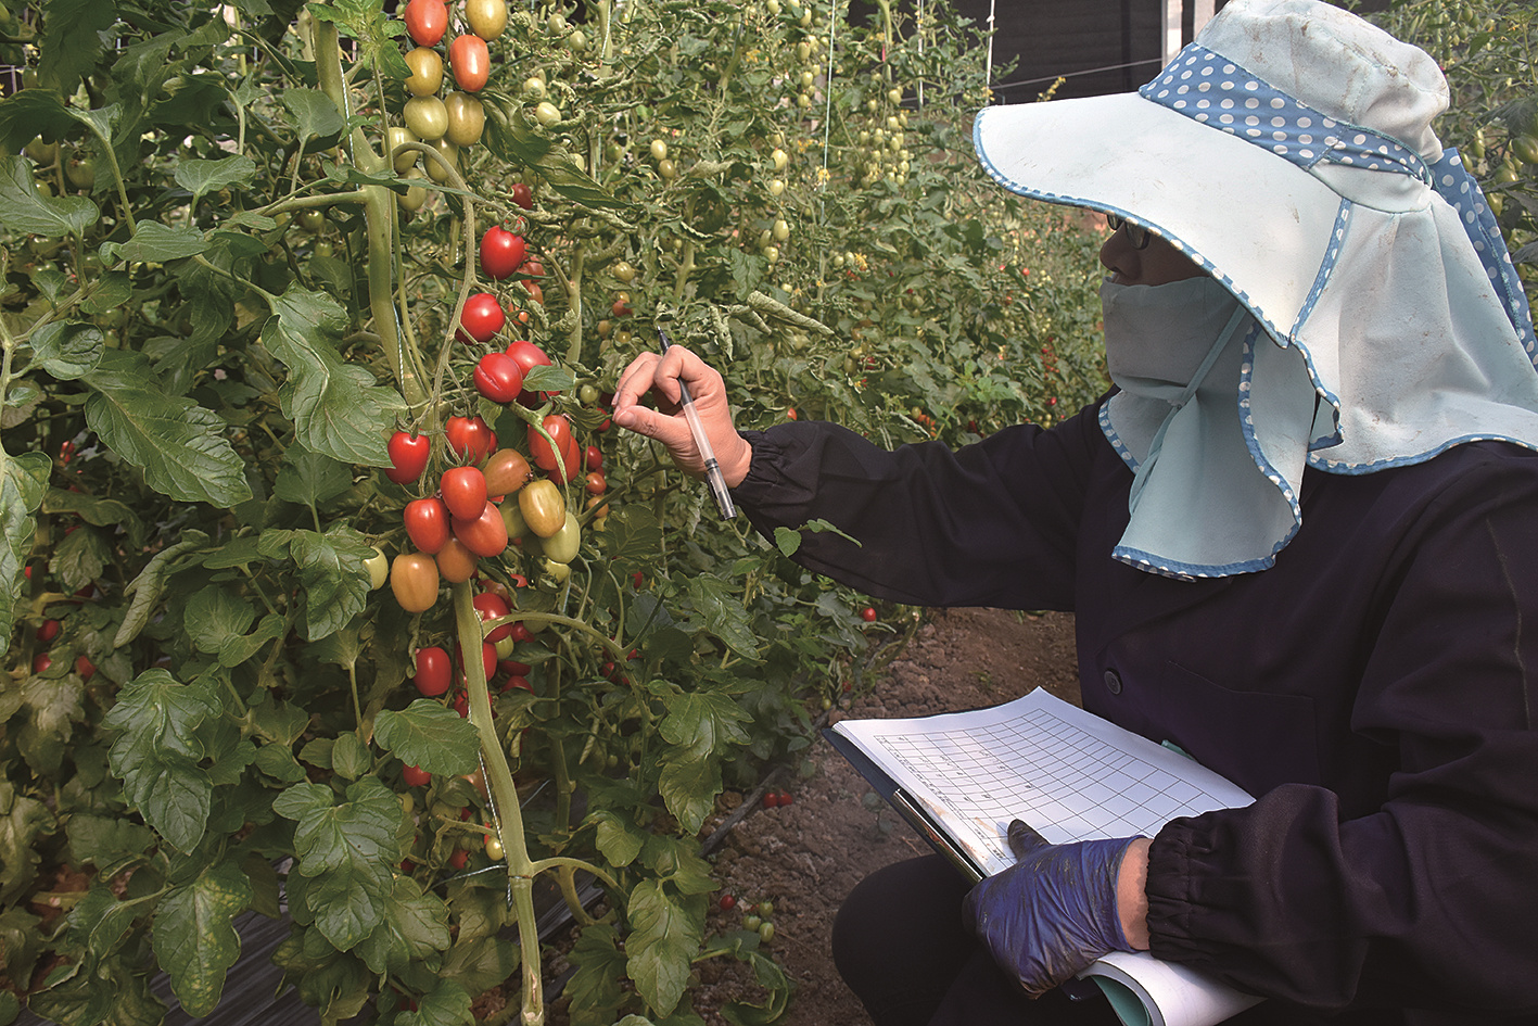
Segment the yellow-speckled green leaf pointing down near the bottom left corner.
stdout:
<path fill-rule="evenodd" d="M 155 957 L 188 1015 L 208 1015 L 218 1004 L 225 975 L 240 958 L 232 920 L 251 897 L 251 880 L 240 866 L 220 863 L 160 898 L 151 932 Z"/>

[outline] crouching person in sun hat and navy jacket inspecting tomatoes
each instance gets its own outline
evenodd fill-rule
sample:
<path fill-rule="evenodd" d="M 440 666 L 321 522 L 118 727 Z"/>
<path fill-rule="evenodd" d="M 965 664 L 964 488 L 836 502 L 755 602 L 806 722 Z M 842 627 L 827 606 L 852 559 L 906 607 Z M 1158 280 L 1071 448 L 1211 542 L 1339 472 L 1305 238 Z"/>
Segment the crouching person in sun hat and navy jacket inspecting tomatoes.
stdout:
<path fill-rule="evenodd" d="M 878 1026 L 1114 1021 L 1055 989 L 1112 949 L 1267 998 L 1235 1023 L 1538 1021 L 1538 346 L 1446 103 L 1353 14 L 1233 0 L 1135 94 L 984 109 L 1004 188 L 1115 226 L 1115 389 L 1050 429 L 737 431 L 686 349 L 626 369 L 615 423 L 697 472 L 686 381 L 757 529 L 858 541 L 803 565 L 1074 611 L 1084 708 L 1257 795 L 874 874 L 834 954 Z"/>

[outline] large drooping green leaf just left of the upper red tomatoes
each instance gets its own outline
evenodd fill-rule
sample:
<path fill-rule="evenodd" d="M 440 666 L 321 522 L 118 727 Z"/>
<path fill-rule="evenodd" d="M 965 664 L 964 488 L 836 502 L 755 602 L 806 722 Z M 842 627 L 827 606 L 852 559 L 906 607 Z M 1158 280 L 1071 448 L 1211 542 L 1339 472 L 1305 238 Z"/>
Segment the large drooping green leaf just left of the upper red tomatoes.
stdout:
<path fill-rule="evenodd" d="M 340 357 L 329 335 L 346 323 L 341 308 L 298 286 L 271 303 L 274 315 L 261 341 L 288 368 L 278 398 L 300 441 L 343 463 L 389 466 L 384 443 L 406 401 L 368 369 Z"/>

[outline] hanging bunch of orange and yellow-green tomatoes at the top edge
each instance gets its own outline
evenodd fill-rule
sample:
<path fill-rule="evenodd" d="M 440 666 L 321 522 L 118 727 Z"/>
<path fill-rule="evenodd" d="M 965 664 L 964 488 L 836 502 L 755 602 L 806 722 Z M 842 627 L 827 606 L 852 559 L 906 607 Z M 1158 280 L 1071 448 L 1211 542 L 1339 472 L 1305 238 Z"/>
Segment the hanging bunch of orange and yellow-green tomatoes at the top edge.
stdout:
<path fill-rule="evenodd" d="M 448 166 L 458 169 L 461 148 L 480 142 L 486 128 L 486 111 L 475 97 L 491 77 L 491 51 L 488 43 L 508 28 L 506 0 L 464 0 L 463 26 L 449 42 L 448 69 L 455 89 L 440 97 L 444 80 L 444 54 L 438 45 L 449 32 L 449 8 L 443 0 L 411 0 L 401 12 L 406 34 L 415 46 L 406 52 L 406 78 L 409 98 L 401 111 L 403 128 L 391 128 L 389 145 L 395 151 L 401 143 L 421 142 L 438 151 Z M 395 172 L 406 177 L 420 175 L 417 154 L 404 151 L 395 157 Z M 448 172 L 437 160 L 426 162 L 428 177 L 446 182 Z M 412 189 L 401 197 L 403 206 L 418 209 L 426 200 L 421 189 Z"/>

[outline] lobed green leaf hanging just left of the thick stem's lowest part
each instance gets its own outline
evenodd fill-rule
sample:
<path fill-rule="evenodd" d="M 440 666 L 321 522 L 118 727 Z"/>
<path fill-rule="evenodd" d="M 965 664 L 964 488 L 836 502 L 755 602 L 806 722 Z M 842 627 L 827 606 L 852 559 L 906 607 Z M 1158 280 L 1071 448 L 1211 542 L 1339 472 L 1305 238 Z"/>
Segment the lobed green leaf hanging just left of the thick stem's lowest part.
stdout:
<path fill-rule="evenodd" d="M 365 777 L 341 804 L 332 803 L 331 788 L 301 783 L 280 794 L 272 811 L 298 823 L 300 875 L 318 878 L 306 895 L 315 924 L 338 951 L 351 951 L 384 921 L 395 889 L 400 798 Z"/>

